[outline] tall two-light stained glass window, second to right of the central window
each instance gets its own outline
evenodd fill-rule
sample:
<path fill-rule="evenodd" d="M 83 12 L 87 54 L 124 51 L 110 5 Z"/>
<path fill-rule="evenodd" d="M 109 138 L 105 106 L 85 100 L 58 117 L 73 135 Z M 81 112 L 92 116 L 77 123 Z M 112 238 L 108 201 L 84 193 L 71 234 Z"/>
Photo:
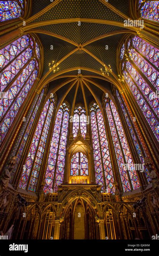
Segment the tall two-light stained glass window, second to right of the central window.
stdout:
<path fill-rule="evenodd" d="M 107 97 L 105 102 L 123 190 L 125 192 L 132 188 L 137 189 L 140 184 L 118 112 L 112 100 Z"/>

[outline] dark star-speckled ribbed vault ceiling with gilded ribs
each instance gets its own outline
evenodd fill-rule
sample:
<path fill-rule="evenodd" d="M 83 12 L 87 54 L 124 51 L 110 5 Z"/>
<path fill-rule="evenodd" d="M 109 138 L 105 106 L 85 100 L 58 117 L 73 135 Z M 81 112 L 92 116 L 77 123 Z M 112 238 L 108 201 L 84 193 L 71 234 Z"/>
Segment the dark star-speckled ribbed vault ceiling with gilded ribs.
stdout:
<path fill-rule="evenodd" d="M 110 4 L 129 16 L 128 2 L 125 3 L 122 0 L 119 4 L 110 1 Z M 48 3 L 44 0 L 33 1 L 32 15 L 44 10 L 47 6 Z M 58 24 L 48 24 L 52 20 L 57 21 Z M 101 103 L 104 91 L 109 92 L 113 97 L 111 82 L 113 79 L 117 82 L 117 49 L 123 34 L 127 33 L 128 29 L 123 26 L 114 26 L 115 24 L 102 24 L 105 20 L 121 23 L 124 17 L 108 8 L 104 1 L 65 0 L 60 1 L 32 22 L 37 23 L 37 26 L 34 25 L 34 29 L 30 28 L 28 31 L 36 32 L 44 48 L 43 75 L 48 72 L 49 63 L 52 61 L 55 61 L 55 64 L 59 63 L 59 70 L 55 72 L 57 79 L 48 84 L 48 95 L 57 88 L 56 94 L 59 102 L 61 97 L 61 99 L 66 99 L 71 106 L 74 101 L 75 104 L 85 103 L 87 109 L 95 98 L 98 98 Z M 40 22 L 42 24 L 39 25 Z M 79 48 L 79 45 L 82 47 Z M 109 76 L 112 80 L 102 75 L 103 65 L 111 66 L 112 73 L 109 73 Z M 61 74 L 58 74 L 59 72 Z M 69 88 L 73 83 L 73 81 L 69 82 L 69 79 L 71 80 L 72 76 L 77 77 L 79 73 L 84 76 L 84 80 L 79 85 L 75 83 L 67 96 L 67 87 Z M 47 78 L 51 75 L 50 72 Z M 63 78 L 63 75 L 66 77 Z M 89 81 L 85 81 L 85 78 Z M 68 83 L 61 88 L 59 85 L 65 82 Z M 77 93 L 75 93 L 76 86 L 79 87 Z"/>

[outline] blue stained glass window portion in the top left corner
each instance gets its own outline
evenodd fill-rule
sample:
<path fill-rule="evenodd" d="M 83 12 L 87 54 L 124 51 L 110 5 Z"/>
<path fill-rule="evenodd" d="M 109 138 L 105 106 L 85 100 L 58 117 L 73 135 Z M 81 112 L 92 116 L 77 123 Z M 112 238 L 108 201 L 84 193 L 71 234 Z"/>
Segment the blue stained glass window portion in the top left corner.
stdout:
<path fill-rule="evenodd" d="M 0 22 L 23 16 L 25 0 L 0 1 Z"/>

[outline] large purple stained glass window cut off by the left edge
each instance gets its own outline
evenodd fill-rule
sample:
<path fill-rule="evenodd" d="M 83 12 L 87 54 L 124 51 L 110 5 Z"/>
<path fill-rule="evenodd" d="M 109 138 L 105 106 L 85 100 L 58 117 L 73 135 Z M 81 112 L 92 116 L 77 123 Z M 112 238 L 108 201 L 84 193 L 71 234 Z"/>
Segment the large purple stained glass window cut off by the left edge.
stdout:
<path fill-rule="evenodd" d="M 36 39 L 24 35 L 0 50 L 0 144 L 39 73 Z"/>

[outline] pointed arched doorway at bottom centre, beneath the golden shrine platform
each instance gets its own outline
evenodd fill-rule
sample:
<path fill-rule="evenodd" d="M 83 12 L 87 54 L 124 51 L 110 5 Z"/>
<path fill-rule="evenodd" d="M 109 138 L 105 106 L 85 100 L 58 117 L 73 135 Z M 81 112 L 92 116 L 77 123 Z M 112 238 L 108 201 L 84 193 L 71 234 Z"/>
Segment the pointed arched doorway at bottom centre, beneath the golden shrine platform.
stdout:
<path fill-rule="evenodd" d="M 64 213 L 60 239 L 100 239 L 95 211 L 82 197 L 75 198 Z"/>

